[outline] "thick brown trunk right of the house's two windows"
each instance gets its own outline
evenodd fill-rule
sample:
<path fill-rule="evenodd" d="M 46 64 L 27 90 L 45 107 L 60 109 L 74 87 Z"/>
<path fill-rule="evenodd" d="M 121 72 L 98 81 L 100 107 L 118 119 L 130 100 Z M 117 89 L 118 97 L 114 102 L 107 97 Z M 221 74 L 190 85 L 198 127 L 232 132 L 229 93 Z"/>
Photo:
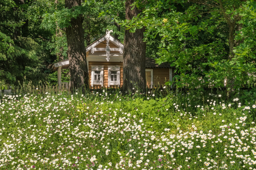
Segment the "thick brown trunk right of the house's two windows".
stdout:
<path fill-rule="evenodd" d="M 134 0 L 126 0 L 125 19 L 130 20 L 141 13 L 136 6 L 131 4 Z M 131 10 L 131 8 L 133 8 Z M 145 56 L 146 43 L 143 42 L 145 28 L 137 29 L 134 33 L 125 30 L 124 38 L 124 59 L 123 59 L 123 91 L 146 90 Z"/>

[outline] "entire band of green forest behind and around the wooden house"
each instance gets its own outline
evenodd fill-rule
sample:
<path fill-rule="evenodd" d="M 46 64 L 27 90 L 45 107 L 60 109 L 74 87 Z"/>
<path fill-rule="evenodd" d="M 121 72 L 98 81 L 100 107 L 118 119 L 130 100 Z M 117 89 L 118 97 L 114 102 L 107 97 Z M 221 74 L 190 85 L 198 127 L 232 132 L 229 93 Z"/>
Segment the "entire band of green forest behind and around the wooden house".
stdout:
<path fill-rule="evenodd" d="M 129 0 L 130 1 L 130 0 Z M 84 17 L 85 45 L 113 30 L 145 28 L 146 57 L 175 66 L 177 86 L 232 88 L 255 84 L 255 0 L 131 1 L 142 13 L 125 20 L 125 1 L 0 0 L 0 85 L 57 83 L 49 64 L 67 59 L 66 28 Z M 68 70 L 62 71 L 68 82 Z"/>

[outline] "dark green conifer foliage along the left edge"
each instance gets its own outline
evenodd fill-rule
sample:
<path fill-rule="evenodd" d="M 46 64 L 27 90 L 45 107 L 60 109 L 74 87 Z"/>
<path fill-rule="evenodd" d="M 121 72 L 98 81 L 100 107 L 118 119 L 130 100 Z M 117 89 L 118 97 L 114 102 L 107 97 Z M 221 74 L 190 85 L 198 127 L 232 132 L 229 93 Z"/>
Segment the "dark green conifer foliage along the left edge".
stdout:
<path fill-rule="evenodd" d="M 28 20 L 28 6 L 14 1 L 0 1 L 0 79 L 18 84 L 25 79 L 35 83 L 45 78 L 42 41 L 32 31 L 37 24 Z M 42 33 L 42 32 L 41 32 Z"/>

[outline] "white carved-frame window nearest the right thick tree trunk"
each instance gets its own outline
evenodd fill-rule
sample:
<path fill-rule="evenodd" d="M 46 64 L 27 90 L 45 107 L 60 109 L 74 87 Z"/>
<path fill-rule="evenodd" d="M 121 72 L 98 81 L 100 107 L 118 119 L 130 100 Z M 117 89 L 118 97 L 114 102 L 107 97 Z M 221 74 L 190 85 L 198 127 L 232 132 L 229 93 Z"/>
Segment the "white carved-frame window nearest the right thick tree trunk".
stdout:
<path fill-rule="evenodd" d="M 108 66 L 108 85 L 120 85 L 120 66 Z"/>

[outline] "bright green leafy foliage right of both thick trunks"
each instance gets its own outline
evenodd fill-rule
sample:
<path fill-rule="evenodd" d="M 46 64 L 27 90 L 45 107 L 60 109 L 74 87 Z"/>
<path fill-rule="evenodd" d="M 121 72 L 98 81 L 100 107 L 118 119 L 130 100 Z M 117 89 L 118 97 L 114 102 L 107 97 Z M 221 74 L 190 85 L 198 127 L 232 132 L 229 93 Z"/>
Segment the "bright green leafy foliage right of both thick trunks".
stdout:
<path fill-rule="evenodd" d="M 254 1 L 138 1 L 136 5 L 144 8 L 143 13 L 123 25 L 130 31 L 145 26 L 147 41 L 161 37 L 156 61 L 177 68 L 177 86 L 223 87 L 224 79 L 231 78 L 228 87 L 233 81 L 237 89 L 255 82 Z"/>

